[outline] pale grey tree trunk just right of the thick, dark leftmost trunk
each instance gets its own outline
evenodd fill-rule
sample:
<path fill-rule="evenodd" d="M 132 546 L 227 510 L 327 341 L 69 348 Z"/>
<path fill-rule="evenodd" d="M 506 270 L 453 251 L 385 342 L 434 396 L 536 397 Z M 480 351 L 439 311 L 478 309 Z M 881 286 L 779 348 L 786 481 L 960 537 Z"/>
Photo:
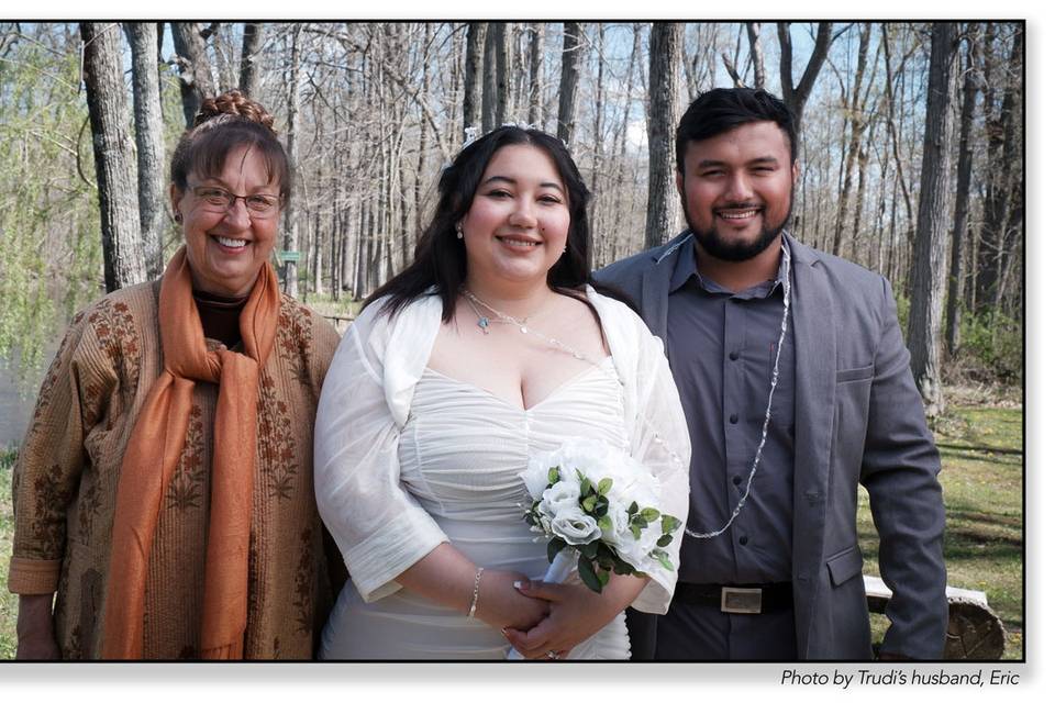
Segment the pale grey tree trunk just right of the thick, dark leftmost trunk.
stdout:
<path fill-rule="evenodd" d="M 157 26 L 153 22 L 127 22 L 124 31 L 132 46 L 132 104 L 135 113 L 135 147 L 138 171 L 140 227 L 143 233 L 146 275 L 154 279 L 165 266 L 162 235 L 166 230 L 165 124 L 162 121 L 157 80 Z"/>

